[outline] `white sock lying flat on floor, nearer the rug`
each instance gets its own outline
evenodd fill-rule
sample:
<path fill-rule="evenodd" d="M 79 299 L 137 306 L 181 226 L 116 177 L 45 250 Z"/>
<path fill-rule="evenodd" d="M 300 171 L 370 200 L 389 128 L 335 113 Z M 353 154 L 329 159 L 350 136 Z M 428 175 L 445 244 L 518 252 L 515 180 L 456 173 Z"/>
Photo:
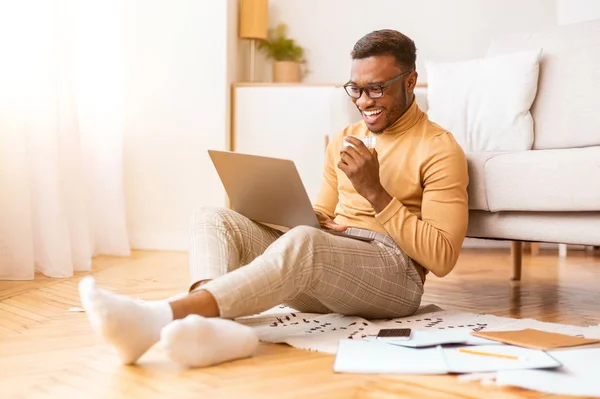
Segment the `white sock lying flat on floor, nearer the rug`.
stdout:
<path fill-rule="evenodd" d="M 198 315 L 169 323 L 160 337 L 171 359 L 187 367 L 206 367 L 250 357 L 258 346 L 252 328 Z"/>

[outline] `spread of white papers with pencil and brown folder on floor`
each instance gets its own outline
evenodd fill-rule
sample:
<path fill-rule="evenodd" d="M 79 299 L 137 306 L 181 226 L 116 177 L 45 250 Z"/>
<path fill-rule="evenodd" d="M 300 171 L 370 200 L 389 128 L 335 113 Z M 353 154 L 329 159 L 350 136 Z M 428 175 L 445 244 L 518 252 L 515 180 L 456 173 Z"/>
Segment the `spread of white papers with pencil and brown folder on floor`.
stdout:
<path fill-rule="evenodd" d="M 414 331 L 406 341 L 342 340 L 333 369 L 341 373 L 494 373 L 499 385 L 600 397 L 600 348 L 579 349 L 594 343 L 600 340 L 531 329 Z"/>

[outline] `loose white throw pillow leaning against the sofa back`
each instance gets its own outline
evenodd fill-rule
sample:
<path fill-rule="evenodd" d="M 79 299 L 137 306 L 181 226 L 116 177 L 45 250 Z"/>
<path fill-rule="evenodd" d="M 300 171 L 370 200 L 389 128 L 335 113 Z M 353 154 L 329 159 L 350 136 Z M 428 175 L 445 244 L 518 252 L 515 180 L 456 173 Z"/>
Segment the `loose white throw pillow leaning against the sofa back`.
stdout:
<path fill-rule="evenodd" d="M 537 90 L 540 53 L 537 49 L 427 62 L 430 119 L 452 132 L 465 151 L 531 149 L 529 110 Z"/>

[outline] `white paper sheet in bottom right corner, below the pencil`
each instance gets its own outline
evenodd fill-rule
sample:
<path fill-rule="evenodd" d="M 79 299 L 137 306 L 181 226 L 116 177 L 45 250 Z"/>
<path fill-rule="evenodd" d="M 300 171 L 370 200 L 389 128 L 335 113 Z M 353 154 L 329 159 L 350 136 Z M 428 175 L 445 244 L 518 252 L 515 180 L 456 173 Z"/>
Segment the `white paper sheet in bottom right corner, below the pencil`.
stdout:
<path fill-rule="evenodd" d="M 500 371 L 496 383 L 555 395 L 600 397 L 600 348 L 549 353 L 562 363 L 560 369 Z"/>

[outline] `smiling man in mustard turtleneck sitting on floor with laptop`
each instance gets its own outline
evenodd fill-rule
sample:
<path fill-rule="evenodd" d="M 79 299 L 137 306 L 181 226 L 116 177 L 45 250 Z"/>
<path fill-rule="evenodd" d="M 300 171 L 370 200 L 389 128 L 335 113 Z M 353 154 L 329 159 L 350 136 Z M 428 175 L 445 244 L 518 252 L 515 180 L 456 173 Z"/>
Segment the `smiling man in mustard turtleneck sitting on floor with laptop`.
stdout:
<path fill-rule="evenodd" d="M 204 208 L 191 226 L 186 297 L 140 302 L 97 288 L 91 277 L 81 282 L 93 328 L 124 363 L 159 340 L 188 366 L 250 356 L 253 330 L 227 319 L 282 303 L 302 312 L 408 316 L 419 307 L 426 274 L 453 269 L 467 229 L 467 161 L 452 134 L 415 102 L 414 42 L 375 31 L 351 54 L 344 88 L 363 120 L 329 144 L 314 208 L 323 227 L 362 229 L 374 240 L 308 226 L 284 234 Z M 369 135 L 377 137 L 374 151 L 361 140 Z"/>

